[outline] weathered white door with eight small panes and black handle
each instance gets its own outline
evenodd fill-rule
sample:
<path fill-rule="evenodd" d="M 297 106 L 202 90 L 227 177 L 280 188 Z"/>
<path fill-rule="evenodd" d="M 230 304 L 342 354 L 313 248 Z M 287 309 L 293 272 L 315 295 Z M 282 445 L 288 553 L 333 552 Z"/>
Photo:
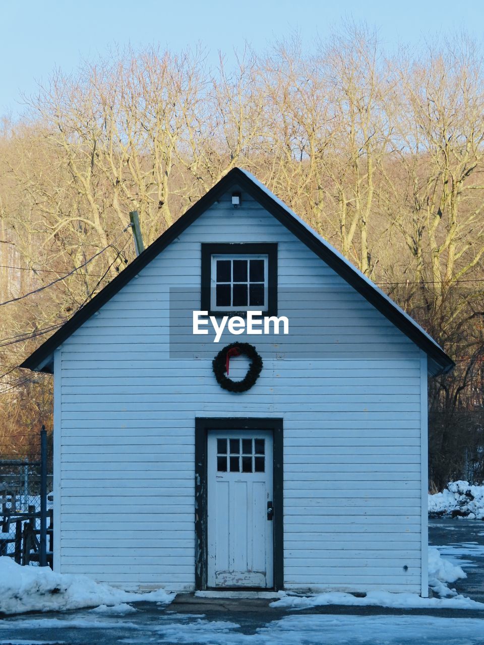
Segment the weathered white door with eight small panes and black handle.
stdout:
<path fill-rule="evenodd" d="M 212 430 L 207 455 L 207 584 L 272 588 L 272 432 Z"/>

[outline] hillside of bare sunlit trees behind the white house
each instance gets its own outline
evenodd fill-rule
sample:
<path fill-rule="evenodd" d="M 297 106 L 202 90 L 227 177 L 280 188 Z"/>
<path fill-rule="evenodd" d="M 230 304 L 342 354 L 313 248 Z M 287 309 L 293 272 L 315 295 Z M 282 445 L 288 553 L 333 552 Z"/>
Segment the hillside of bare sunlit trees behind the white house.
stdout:
<path fill-rule="evenodd" d="M 0 128 L 0 453 L 52 427 L 52 377 L 15 368 L 134 258 L 128 213 L 146 246 L 241 166 L 456 361 L 429 383 L 430 479 L 480 481 L 482 54 L 460 36 L 388 55 L 350 26 L 230 70 L 146 48 L 55 72 Z"/>

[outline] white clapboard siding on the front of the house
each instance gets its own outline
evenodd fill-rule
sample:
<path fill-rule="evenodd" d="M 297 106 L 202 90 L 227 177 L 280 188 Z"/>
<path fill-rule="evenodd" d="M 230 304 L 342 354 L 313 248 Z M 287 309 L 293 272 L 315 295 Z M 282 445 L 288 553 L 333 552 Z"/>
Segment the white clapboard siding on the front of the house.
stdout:
<path fill-rule="evenodd" d="M 193 589 L 195 417 L 282 417 L 285 586 L 419 592 L 421 352 L 259 204 L 243 194 L 235 212 L 228 200 L 57 350 L 56 566 L 126 588 Z M 278 244 L 278 314 L 291 332 L 237 337 L 264 360 L 243 395 L 211 373 L 227 332 L 219 344 L 197 337 L 196 359 L 170 357 L 183 333 L 168 344 L 170 304 L 199 309 L 200 243 L 234 241 Z"/>

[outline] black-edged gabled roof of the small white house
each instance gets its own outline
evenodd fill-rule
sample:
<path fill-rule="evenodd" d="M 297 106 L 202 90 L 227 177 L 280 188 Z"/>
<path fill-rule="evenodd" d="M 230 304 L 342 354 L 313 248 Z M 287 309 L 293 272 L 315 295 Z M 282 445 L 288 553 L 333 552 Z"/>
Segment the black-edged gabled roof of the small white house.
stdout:
<path fill-rule="evenodd" d="M 454 367 L 454 361 L 440 348 L 432 337 L 417 324 L 407 313 L 390 299 L 386 293 L 372 283 L 363 273 L 354 267 L 335 248 L 318 235 L 296 213 L 292 212 L 280 199 L 277 199 L 263 184 L 240 168 L 233 168 L 207 194 L 203 195 L 185 215 L 160 237 L 150 244 L 125 270 L 116 276 L 105 288 L 87 303 L 79 312 L 68 320 L 57 332 L 35 350 L 20 367 L 30 368 L 41 372 L 52 373 L 54 350 L 74 333 L 88 318 L 103 304 L 107 303 L 125 284 L 149 264 L 163 249 L 172 243 L 197 217 L 204 213 L 221 195 L 232 186 L 245 190 L 253 199 L 269 213 L 294 233 L 301 242 L 318 255 L 330 268 L 338 273 L 367 301 L 381 312 L 391 323 L 413 341 L 429 357 L 429 372 L 432 375 L 449 372 Z"/>

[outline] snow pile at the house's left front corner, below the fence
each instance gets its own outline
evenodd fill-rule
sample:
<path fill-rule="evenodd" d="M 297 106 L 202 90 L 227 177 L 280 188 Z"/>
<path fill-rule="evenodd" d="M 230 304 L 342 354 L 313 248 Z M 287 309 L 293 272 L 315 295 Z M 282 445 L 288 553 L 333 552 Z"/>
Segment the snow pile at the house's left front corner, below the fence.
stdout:
<path fill-rule="evenodd" d="M 150 593 L 123 591 L 95 582 L 86 575 L 55 573 L 49 567 L 20 566 L 10 557 L 0 557 L 0 613 L 59 611 L 97 605 L 119 608 L 121 603 L 136 600 L 167 604 L 173 599 L 174 594 L 163 589 Z"/>

